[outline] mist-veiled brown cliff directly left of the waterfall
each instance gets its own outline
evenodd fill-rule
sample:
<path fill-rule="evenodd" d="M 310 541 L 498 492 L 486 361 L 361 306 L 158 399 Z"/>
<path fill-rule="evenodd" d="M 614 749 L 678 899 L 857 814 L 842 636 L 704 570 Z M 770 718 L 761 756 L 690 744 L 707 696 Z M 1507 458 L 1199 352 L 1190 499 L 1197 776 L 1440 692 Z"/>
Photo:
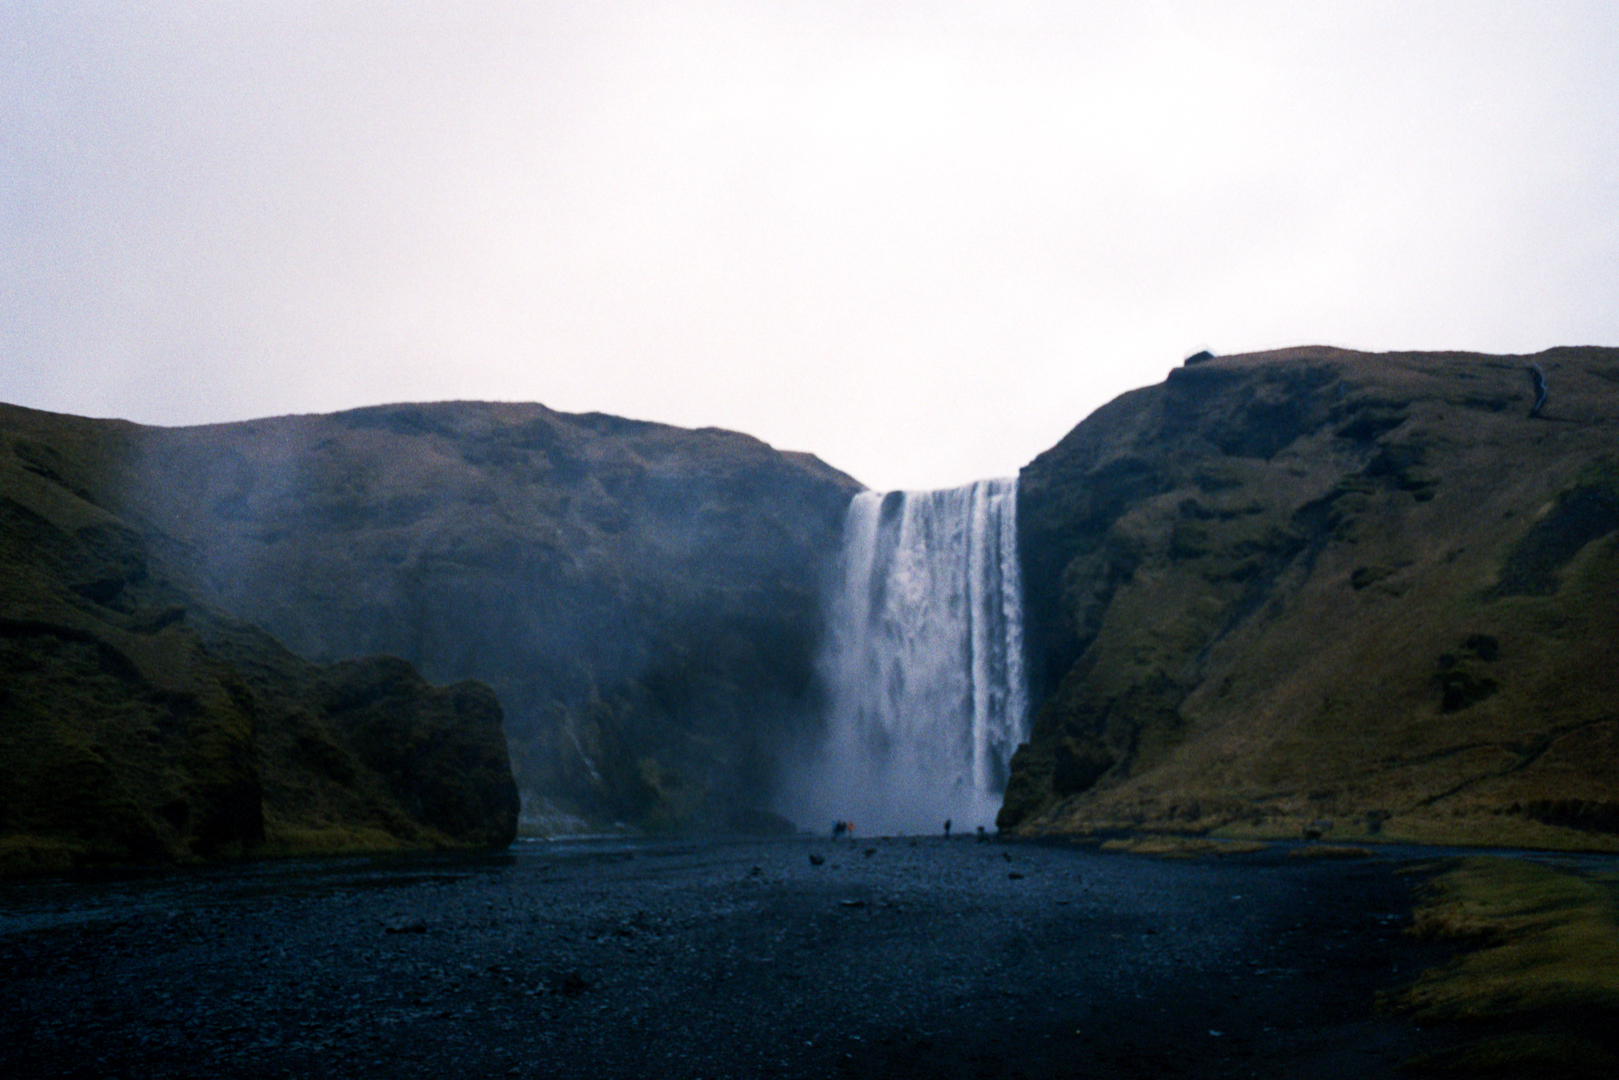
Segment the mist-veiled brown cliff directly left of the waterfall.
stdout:
<path fill-rule="evenodd" d="M 102 426 L 97 492 L 291 651 L 489 683 L 539 829 L 725 826 L 816 722 L 819 573 L 858 484 L 539 405 Z"/>

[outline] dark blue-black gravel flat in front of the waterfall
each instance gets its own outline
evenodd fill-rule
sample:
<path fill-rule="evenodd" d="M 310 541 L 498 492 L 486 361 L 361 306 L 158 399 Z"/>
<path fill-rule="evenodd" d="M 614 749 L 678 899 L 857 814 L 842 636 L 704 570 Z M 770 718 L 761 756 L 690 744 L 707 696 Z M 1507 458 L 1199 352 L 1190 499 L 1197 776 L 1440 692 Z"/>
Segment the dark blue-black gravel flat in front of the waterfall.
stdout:
<path fill-rule="evenodd" d="M 816 865 L 813 860 L 821 858 Z M 0 886 L 6 1077 L 1396 1077 L 1413 855 L 521 844 Z"/>

